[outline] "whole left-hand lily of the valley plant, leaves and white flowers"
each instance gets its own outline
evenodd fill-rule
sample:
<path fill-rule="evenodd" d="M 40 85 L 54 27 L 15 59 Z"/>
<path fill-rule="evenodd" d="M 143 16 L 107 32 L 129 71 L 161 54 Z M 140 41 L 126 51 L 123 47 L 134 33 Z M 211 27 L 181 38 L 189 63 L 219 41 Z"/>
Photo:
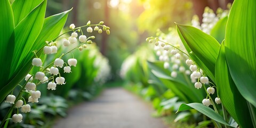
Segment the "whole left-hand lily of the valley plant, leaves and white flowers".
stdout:
<path fill-rule="evenodd" d="M 0 10 L 3 14 L 0 17 L 0 60 L 4 62 L 0 70 L 0 102 L 6 98 L 5 102 L 12 106 L 0 124 L 7 127 L 12 119 L 15 123 L 22 122 L 22 113 L 28 113 L 31 108 L 28 102 L 38 102 L 41 92 L 37 90 L 38 85 L 47 83 L 47 89 L 55 90 L 57 85 L 64 86 L 65 78 L 59 70 L 63 68 L 63 73 L 71 73 L 76 67 L 77 60 L 72 53 L 74 50 L 86 49 L 86 44 L 91 44 L 94 36 L 86 37 L 82 28 L 86 28 L 87 33 L 92 33 L 93 28 L 98 33 L 106 31 L 110 34 L 109 27 L 103 25 L 103 21 L 92 25 L 87 22 L 85 26 L 69 26 L 70 30 L 60 35 L 66 23 L 68 13 L 71 10 L 52 15 L 45 18 L 47 0 L 37 1 L 14 1 L 12 4 L 8 0 L 0 2 Z M 70 34 L 69 37 L 62 37 Z M 80 36 L 78 37 L 78 33 Z M 60 42 L 60 39 L 64 39 Z M 78 41 L 77 41 L 78 40 Z M 57 44 L 71 47 L 69 51 L 62 53 L 58 50 Z M 45 60 L 47 54 L 58 54 L 57 58 L 50 61 Z M 62 57 L 71 54 L 67 62 Z M 28 74 L 33 67 L 38 67 L 35 74 Z M 25 82 L 23 79 L 25 78 Z M 18 95 L 13 94 L 15 87 L 18 87 Z M 28 93 L 29 98 L 22 97 L 23 93 Z M 19 109 L 20 108 L 20 109 Z M 17 113 L 12 115 L 12 111 Z M 10 118 L 12 117 L 12 118 Z"/>

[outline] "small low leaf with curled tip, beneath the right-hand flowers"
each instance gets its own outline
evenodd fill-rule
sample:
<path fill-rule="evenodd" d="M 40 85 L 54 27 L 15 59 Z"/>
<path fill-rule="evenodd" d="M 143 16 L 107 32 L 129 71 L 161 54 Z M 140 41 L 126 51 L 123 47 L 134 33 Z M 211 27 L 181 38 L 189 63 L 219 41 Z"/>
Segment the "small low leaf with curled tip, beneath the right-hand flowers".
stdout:
<path fill-rule="evenodd" d="M 207 117 L 213 119 L 214 121 L 217 121 L 221 124 L 225 124 L 227 126 L 230 126 L 227 122 L 225 122 L 223 117 L 221 117 L 218 113 L 216 113 L 210 107 L 204 106 L 202 103 L 188 103 L 188 104 L 182 103 L 179 107 L 179 110 L 176 113 L 178 113 L 179 111 L 190 110 L 190 109 L 196 109 L 197 111 L 199 111 L 200 113 L 202 113 L 202 114 L 206 115 Z"/>

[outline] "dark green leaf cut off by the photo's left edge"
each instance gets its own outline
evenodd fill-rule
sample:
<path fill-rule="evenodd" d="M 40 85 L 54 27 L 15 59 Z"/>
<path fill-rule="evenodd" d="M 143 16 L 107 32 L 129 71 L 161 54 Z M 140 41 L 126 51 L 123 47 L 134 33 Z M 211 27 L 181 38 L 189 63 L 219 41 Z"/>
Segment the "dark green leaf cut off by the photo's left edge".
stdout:
<path fill-rule="evenodd" d="M 2 88 L 8 81 L 14 50 L 13 13 L 8 0 L 0 1 L 0 12 L 2 12 L 0 16 L 0 62 L 3 62 L 0 68 L 0 88 Z"/>

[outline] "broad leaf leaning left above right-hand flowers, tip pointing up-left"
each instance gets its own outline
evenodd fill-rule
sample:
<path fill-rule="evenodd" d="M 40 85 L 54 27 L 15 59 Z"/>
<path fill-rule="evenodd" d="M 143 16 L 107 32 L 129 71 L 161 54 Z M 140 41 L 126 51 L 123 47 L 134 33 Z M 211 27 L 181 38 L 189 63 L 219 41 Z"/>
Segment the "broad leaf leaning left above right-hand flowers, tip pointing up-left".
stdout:
<path fill-rule="evenodd" d="M 193 52 L 205 66 L 202 68 L 206 73 L 211 72 L 213 76 L 209 76 L 215 82 L 214 71 L 215 61 L 217 60 L 220 44 L 212 36 L 205 34 L 203 31 L 192 27 L 177 24 L 177 31 L 183 45 L 188 52 Z"/>

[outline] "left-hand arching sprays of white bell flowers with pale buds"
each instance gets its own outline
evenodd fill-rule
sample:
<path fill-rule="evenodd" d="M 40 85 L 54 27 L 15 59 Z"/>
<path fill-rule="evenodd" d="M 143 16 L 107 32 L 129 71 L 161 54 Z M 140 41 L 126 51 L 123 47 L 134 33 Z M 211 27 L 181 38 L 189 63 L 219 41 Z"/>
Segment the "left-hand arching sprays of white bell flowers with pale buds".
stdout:
<path fill-rule="evenodd" d="M 92 33 L 93 29 L 91 26 L 95 26 L 94 30 L 98 31 L 98 33 L 102 33 L 102 29 L 103 29 L 103 31 L 106 31 L 107 34 L 110 34 L 110 30 L 109 30 L 110 28 L 102 24 L 103 22 L 101 21 L 97 25 L 91 25 L 91 22 L 89 21 L 87 22 L 86 26 L 82 26 L 82 27 L 87 27 L 86 30 L 88 33 Z M 61 77 L 61 74 L 59 73 L 59 69 L 63 68 L 64 73 L 71 73 L 71 68 L 76 67 L 77 65 L 77 60 L 74 58 L 74 55 L 71 53 L 71 51 L 75 49 L 82 51 L 87 47 L 86 44 L 92 43 L 90 39 L 95 38 L 94 36 L 87 38 L 83 34 L 83 31 L 81 29 L 82 27 L 75 28 L 74 24 L 71 24 L 69 26 L 71 30 L 67 31 L 66 33 L 69 33 L 70 31 L 73 31 L 73 33 L 71 33 L 71 36 L 64 39 L 63 46 L 67 47 L 67 46 L 74 45 L 73 49 L 71 49 L 67 53 L 61 54 L 59 58 L 56 58 L 49 65 L 43 67 L 44 63 L 40 58 L 37 57 L 36 52 L 34 52 L 36 58 L 32 60 L 31 65 L 35 67 L 40 67 L 40 68 L 35 75 L 28 74 L 25 77 L 25 81 L 26 81 L 24 86 L 25 90 L 22 92 L 27 92 L 29 94 L 29 98 L 27 100 L 28 102 L 37 103 L 38 99 L 41 98 L 41 92 L 37 90 L 37 86 L 39 84 L 47 83 L 48 90 L 56 90 L 57 85 L 66 84 L 65 78 Z M 77 32 L 78 33 L 81 32 L 81 35 L 79 37 Z M 50 42 L 46 41 L 46 45 L 43 47 L 44 54 L 55 54 L 59 52 L 57 43 L 60 43 L 58 40 L 60 39 L 59 38 L 60 36 L 53 39 L 53 41 L 50 41 Z M 80 42 L 78 45 L 77 45 L 77 38 L 78 38 L 78 41 Z M 67 62 L 65 62 L 61 58 L 63 57 L 63 55 L 66 55 L 68 53 L 72 54 L 73 58 L 70 58 L 68 59 Z M 19 98 L 19 100 L 16 101 L 16 97 L 13 94 L 10 94 L 10 95 L 7 95 L 5 102 L 14 104 L 15 107 L 17 107 L 17 109 L 21 108 L 22 113 L 28 113 L 31 110 L 30 105 L 26 103 L 26 100 L 23 97 Z M 25 105 L 23 105 L 23 102 L 25 103 Z M 17 114 L 14 114 L 12 116 L 12 120 L 15 123 L 20 123 L 22 121 L 22 115 L 19 114 L 19 111 Z"/>

